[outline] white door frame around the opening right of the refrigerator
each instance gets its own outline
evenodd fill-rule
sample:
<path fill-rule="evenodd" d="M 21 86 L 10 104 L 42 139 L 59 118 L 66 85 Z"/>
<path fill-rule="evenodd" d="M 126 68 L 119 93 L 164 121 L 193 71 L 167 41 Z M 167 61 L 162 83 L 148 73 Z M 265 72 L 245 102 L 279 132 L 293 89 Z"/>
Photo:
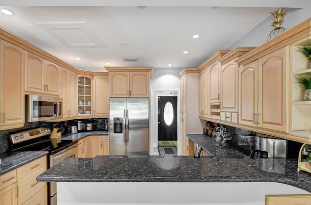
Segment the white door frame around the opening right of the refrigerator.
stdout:
<path fill-rule="evenodd" d="M 180 90 L 175 89 L 152 89 L 150 95 L 150 121 L 149 121 L 149 133 L 150 133 L 150 155 L 158 155 L 157 151 L 157 97 L 160 96 L 177 96 L 177 155 L 180 155 Z"/>

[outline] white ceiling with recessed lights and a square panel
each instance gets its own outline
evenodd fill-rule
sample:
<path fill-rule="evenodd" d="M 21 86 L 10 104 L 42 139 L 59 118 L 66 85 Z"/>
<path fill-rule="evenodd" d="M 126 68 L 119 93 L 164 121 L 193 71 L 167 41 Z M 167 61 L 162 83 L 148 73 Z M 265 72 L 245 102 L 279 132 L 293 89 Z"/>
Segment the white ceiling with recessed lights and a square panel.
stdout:
<path fill-rule="evenodd" d="M 311 0 L 0 0 L 1 8 L 15 13 L 0 13 L 0 27 L 81 69 L 104 71 L 106 62 L 197 67 L 241 39 L 269 12 L 309 4 Z M 194 34 L 200 37 L 193 39 Z"/>

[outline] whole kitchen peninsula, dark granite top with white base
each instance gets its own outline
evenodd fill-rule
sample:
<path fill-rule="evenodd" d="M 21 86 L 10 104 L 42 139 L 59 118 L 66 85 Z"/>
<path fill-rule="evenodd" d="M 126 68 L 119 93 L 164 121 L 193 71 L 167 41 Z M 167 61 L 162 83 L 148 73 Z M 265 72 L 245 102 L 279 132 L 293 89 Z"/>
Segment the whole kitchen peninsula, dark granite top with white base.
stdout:
<path fill-rule="evenodd" d="M 277 172 L 265 169 L 269 166 L 274 166 L 273 171 Z M 264 204 L 267 194 L 309 194 L 310 176 L 297 173 L 296 159 L 97 156 L 67 158 L 37 180 L 57 182 L 59 205 L 79 202 L 259 205 Z"/>

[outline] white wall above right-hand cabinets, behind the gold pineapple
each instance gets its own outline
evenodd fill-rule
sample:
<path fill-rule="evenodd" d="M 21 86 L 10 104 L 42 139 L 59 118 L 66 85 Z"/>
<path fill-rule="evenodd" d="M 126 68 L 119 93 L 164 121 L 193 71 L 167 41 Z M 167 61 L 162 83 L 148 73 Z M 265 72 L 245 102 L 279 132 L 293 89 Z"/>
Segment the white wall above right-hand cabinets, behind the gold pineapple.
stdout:
<path fill-rule="evenodd" d="M 282 24 L 282 27 L 289 30 L 295 25 L 301 23 L 302 21 L 310 17 L 311 17 L 311 4 L 303 9 L 288 11 L 284 17 L 285 21 Z M 244 46 L 258 47 L 261 44 L 267 42 L 267 37 L 273 29 L 273 27 L 270 26 L 270 24 L 273 22 L 271 18 L 272 16 L 269 16 L 267 19 L 262 21 L 252 31 L 244 35 L 239 41 L 237 41 L 236 43 L 228 47 L 228 49 L 233 49 L 235 47 L 244 47 Z"/>

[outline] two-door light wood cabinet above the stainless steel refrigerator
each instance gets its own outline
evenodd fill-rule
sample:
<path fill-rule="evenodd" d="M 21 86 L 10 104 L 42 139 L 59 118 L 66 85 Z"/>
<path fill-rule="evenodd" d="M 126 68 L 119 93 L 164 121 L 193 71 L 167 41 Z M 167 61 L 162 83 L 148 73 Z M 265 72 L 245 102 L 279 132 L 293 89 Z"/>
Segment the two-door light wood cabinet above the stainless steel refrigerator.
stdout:
<path fill-rule="evenodd" d="M 110 97 L 149 97 L 152 67 L 105 67 Z"/>

